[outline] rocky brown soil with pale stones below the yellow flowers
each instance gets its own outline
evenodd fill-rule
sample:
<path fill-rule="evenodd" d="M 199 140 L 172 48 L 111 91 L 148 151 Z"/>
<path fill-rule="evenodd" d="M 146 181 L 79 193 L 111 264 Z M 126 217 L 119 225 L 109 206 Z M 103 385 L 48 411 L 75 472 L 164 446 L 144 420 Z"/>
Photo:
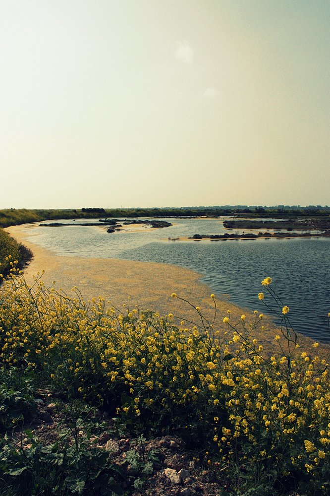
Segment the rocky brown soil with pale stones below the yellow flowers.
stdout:
<path fill-rule="evenodd" d="M 24 428 L 17 430 L 13 441 L 24 450 L 32 447 L 34 439 L 47 446 L 67 433 L 66 441 L 73 445 L 75 434 L 80 449 L 98 448 L 109 452 L 110 461 L 118 468 L 118 483 L 124 495 L 138 496 L 216 496 L 229 490 L 229 480 L 216 465 L 208 462 L 208 453 L 193 451 L 175 435 L 146 440 L 118 433 L 114 419 L 96 411 L 99 427 L 93 433 L 91 423 L 76 433 L 68 415 L 68 405 L 49 390 L 38 390 L 36 412 Z M 71 426 L 71 427 L 70 427 Z M 102 426 L 100 430 L 100 426 Z M 89 434 L 87 433 L 89 431 Z M 224 490 L 224 492 L 223 492 Z"/>

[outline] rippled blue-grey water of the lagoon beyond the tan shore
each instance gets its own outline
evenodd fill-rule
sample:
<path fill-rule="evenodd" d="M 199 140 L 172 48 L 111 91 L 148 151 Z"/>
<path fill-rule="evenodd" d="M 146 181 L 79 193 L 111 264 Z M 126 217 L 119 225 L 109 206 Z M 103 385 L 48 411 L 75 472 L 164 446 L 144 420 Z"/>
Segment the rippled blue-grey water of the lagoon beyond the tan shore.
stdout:
<path fill-rule="evenodd" d="M 29 232 L 31 241 L 59 255 L 173 263 L 197 270 L 213 292 L 230 295 L 232 303 L 251 310 L 266 310 L 257 295 L 263 290 L 261 280 L 271 276 L 272 287 L 290 307 L 294 329 L 330 342 L 330 239 L 173 242 L 167 238 L 227 231 L 220 219 L 172 222 L 170 228 L 112 235 L 79 226 Z"/>

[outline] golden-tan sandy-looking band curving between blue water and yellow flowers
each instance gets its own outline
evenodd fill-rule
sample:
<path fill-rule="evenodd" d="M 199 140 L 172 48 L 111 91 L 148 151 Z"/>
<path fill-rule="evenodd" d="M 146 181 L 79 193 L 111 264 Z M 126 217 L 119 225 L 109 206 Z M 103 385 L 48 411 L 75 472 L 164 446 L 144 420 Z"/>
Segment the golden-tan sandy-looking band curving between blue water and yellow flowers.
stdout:
<path fill-rule="evenodd" d="M 12 226 L 6 229 L 34 254 L 30 264 L 24 269 L 28 284 L 32 284 L 37 273 L 44 270 L 44 284 L 57 290 L 62 289 L 69 296 L 73 296 L 72 288 L 76 286 L 85 300 L 102 297 L 117 309 L 122 309 L 123 305 L 129 305 L 130 308 L 137 305 L 141 310 L 149 309 L 161 314 L 171 312 L 180 319 L 200 324 L 196 310 L 179 299 L 170 297 L 171 293 L 176 293 L 193 305 L 199 306 L 203 314 L 213 319 L 214 302 L 210 298 L 212 291 L 201 283 L 201 274 L 198 272 L 165 263 L 59 256 L 34 244 L 33 238 L 27 240 L 29 229 L 32 227 L 35 225 Z M 227 329 L 222 323 L 227 310 L 231 312 L 232 322 L 236 322 L 242 313 L 246 315 L 247 321 L 255 319 L 250 310 L 241 309 L 226 301 L 225 295 L 216 296 L 218 310 L 215 328 Z M 256 309 L 263 312 L 257 295 Z M 279 330 L 268 317 L 263 319 L 263 324 L 265 328 L 254 331 L 254 336 L 264 345 L 267 353 L 274 353 L 275 349 L 278 349 L 275 335 L 279 334 Z M 301 349 L 308 350 L 313 340 L 300 334 L 299 343 Z M 324 352 L 328 353 L 330 347 L 324 346 Z M 323 348 L 324 346 L 322 345 Z"/>

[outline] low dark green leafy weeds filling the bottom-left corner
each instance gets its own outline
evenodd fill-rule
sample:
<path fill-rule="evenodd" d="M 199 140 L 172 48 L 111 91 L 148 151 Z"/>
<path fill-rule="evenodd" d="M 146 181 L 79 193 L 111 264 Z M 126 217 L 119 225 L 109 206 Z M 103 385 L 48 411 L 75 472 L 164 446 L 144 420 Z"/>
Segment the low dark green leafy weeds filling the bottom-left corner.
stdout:
<path fill-rule="evenodd" d="M 118 468 L 109 453 L 61 439 L 43 445 L 30 434 L 30 447 L 14 444 L 5 436 L 0 442 L 0 494 L 16 496 L 121 495 Z"/>

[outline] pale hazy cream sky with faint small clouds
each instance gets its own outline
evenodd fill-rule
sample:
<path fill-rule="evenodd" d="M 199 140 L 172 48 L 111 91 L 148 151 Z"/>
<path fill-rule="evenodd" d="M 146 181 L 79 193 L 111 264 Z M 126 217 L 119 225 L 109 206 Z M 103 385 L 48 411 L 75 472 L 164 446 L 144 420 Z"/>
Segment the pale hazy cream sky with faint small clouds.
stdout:
<path fill-rule="evenodd" d="M 330 204 L 329 0 L 0 0 L 0 208 Z"/>

